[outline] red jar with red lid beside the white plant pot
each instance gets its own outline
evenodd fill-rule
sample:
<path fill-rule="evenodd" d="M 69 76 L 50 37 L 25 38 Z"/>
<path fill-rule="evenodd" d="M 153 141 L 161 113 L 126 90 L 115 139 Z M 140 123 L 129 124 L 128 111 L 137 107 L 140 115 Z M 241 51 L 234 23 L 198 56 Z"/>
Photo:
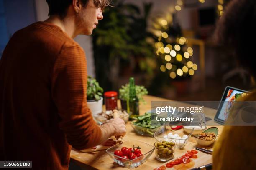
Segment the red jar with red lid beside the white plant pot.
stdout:
<path fill-rule="evenodd" d="M 106 110 L 117 109 L 117 96 L 118 93 L 115 91 L 108 91 L 104 93 Z"/>

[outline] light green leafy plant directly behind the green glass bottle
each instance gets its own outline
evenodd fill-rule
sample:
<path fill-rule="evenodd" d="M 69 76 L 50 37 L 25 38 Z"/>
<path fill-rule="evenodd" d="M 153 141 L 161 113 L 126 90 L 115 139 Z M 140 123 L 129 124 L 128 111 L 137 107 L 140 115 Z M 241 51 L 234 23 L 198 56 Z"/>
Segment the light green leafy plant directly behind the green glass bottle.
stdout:
<path fill-rule="evenodd" d="M 129 84 L 122 85 L 122 87 L 119 89 L 119 98 L 122 100 L 129 100 Z M 143 95 L 148 94 L 148 90 L 144 86 L 135 86 L 136 90 L 136 96 L 138 97 L 138 100 L 146 104 L 145 100 L 143 99 Z"/>

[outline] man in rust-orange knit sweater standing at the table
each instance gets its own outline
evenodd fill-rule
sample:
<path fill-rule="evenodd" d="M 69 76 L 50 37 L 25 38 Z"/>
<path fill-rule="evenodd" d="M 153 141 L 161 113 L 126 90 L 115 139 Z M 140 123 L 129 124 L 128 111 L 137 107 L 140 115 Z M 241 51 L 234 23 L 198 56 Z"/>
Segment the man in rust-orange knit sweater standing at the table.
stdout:
<path fill-rule="evenodd" d="M 49 18 L 15 32 L 0 60 L 0 161 L 67 170 L 82 150 L 125 135 L 118 118 L 98 126 L 87 107 L 87 67 L 73 38 L 91 35 L 108 0 L 46 0 Z"/>

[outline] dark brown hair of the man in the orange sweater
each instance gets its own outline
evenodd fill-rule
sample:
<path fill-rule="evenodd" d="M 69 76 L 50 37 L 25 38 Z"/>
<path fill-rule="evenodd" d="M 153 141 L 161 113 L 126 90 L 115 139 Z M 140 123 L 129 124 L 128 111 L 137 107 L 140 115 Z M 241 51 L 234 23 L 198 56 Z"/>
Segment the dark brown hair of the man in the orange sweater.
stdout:
<path fill-rule="evenodd" d="M 59 15 L 62 19 L 67 15 L 67 9 L 73 0 L 46 0 L 49 6 L 48 15 Z M 89 0 L 80 0 L 85 7 Z M 93 0 L 96 7 L 100 7 L 102 11 L 110 4 L 110 0 Z"/>

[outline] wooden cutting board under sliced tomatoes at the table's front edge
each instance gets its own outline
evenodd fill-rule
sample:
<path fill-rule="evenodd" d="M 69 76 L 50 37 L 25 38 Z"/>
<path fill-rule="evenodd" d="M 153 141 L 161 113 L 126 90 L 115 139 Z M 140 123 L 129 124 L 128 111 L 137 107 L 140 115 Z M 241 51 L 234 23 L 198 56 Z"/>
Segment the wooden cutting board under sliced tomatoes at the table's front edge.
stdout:
<path fill-rule="evenodd" d="M 212 156 L 209 156 L 211 154 L 203 153 L 199 150 L 197 151 L 198 151 L 198 153 L 196 154 L 197 158 L 189 158 L 191 160 L 190 163 L 187 163 L 187 164 L 181 163 L 179 165 L 174 165 L 172 168 L 167 168 L 166 164 L 174 161 L 174 160 L 169 160 L 168 162 L 162 164 L 161 166 L 165 166 L 166 170 L 190 170 L 192 168 L 198 168 L 202 165 L 212 163 Z M 159 167 L 156 167 L 156 168 L 159 168 Z"/>

